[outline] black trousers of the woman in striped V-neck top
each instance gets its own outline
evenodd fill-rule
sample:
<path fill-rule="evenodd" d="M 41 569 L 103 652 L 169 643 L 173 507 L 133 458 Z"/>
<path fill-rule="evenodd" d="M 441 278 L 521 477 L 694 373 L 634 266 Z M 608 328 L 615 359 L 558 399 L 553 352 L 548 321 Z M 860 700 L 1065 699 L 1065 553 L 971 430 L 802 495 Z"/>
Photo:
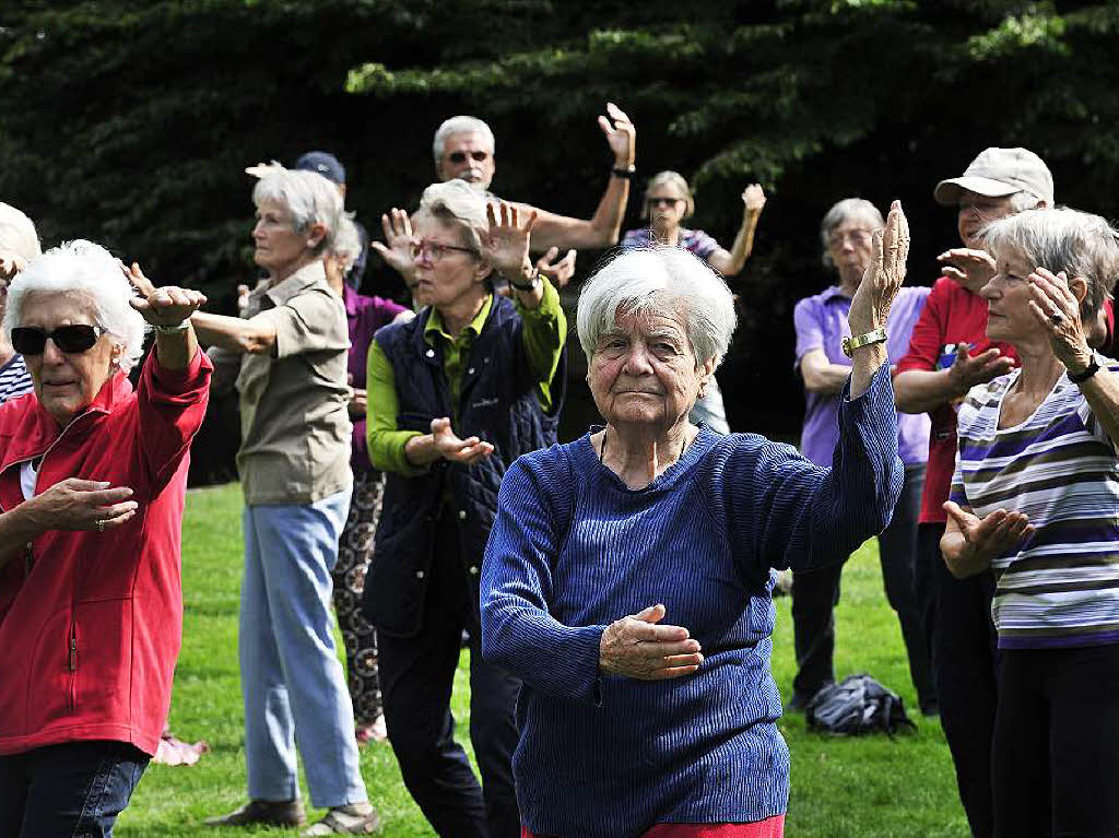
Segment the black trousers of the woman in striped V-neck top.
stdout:
<path fill-rule="evenodd" d="M 995 835 L 1119 835 L 1119 646 L 1007 649 L 998 686 Z"/>

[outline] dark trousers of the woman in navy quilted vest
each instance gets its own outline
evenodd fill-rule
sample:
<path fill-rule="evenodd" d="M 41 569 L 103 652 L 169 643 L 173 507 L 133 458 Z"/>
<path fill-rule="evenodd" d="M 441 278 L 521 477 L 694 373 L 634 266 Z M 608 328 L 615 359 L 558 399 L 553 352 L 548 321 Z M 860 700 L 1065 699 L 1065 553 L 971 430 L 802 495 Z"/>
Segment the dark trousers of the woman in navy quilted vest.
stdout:
<path fill-rule="evenodd" d="M 518 838 L 513 752 L 520 681 L 482 661 L 472 592 L 458 529 L 444 518 L 439 524 L 420 633 L 377 635 L 385 724 L 404 784 L 439 835 Z M 481 787 L 454 741 L 450 708 L 463 629 L 470 634 L 470 741 Z"/>

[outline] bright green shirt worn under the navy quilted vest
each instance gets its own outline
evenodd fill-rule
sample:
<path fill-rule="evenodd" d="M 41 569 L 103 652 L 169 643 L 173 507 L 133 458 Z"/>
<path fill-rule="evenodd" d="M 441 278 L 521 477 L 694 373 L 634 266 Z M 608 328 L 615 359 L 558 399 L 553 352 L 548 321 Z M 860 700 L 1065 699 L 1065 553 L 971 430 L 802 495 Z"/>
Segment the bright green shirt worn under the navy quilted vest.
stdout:
<path fill-rule="evenodd" d="M 544 296 L 535 309 L 526 309 L 514 295 L 513 302 L 520 314 L 524 329 L 525 356 L 529 368 L 536 377 L 536 398 L 545 411 L 552 408 L 552 378 L 560 366 L 560 354 L 567 338 L 567 318 L 560 304 L 560 292 L 551 282 L 540 277 L 544 283 Z M 459 394 L 462 385 L 462 364 L 470 357 L 470 347 L 481 333 L 486 319 L 493 308 L 493 295 L 489 294 L 481 310 L 457 338 L 452 338 L 443 328 L 443 319 L 439 311 L 433 310 L 424 327 L 424 340 L 434 347 L 436 342 L 443 349 L 443 374 L 446 376 L 448 389 L 451 393 L 453 411 L 459 409 Z M 366 443 L 373 464 L 383 471 L 394 471 L 412 477 L 423 474 L 426 467 L 416 467 L 404 455 L 404 445 L 413 436 L 422 436 L 419 431 L 401 431 L 396 426 L 398 401 L 396 398 L 396 379 L 393 365 L 385 357 L 377 341 L 369 347 L 367 361 L 366 387 L 368 388 L 368 415 L 366 422 Z M 451 426 L 458 432 L 458 415 L 451 416 Z"/>

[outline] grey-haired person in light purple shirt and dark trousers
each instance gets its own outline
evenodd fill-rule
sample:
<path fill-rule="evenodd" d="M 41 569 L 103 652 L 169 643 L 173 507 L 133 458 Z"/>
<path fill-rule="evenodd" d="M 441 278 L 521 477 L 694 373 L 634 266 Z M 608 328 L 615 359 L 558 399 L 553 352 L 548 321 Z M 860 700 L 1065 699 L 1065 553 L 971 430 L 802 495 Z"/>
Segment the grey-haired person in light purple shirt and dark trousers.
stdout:
<path fill-rule="evenodd" d="M 841 343 L 850 337 L 847 312 L 871 261 L 871 236 L 883 225 L 882 214 L 862 198 L 847 198 L 824 216 L 820 239 L 824 264 L 839 275 L 837 284 L 797 303 L 797 369 L 805 383 L 805 424 L 800 451 L 817 465 L 831 462 L 839 439 L 837 416 L 850 359 Z M 896 361 L 909 349 L 910 333 L 929 295 L 927 288 L 903 288 L 886 322 L 887 351 Z M 916 519 L 929 452 L 929 418 L 899 414 L 897 453 L 905 463 L 905 486 L 888 527 L 878 536 L 878 557 L 890 606 L 897 613 L 909 655 L 918 703 L 927 715 L 937 712 L 935 686 L 928 646 L 921 631 L 913 589 Z M 803 709 L 820 687 L 835 680 L 835 619 L 843 564 L 798 573 L 792 585 L 792 620 L 797 676 L 790 707 Z"/>

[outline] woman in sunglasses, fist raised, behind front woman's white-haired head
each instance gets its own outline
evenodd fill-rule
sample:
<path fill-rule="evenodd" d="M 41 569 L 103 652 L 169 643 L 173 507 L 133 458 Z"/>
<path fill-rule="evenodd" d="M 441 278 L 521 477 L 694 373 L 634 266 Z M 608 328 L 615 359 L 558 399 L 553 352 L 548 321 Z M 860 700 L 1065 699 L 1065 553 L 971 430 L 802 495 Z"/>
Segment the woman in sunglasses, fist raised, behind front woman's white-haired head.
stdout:
<path fill-rule="evenodd" d="M 702 229 L 681 226 L 696 211 L 692 187 L 684 176 L 675 171 L 657 172 L 649 178 L 641 204 L 641 218 L 648 220 L 649 226 L 627 232 L 622 238 L 622 247 L 650 247 L 655 244 L 683 247 L 723 276 L 736 276 L 754 248 L 754 233 L 765 207 L 765 192 L 761 186 L 747 186 L 742 191 L 742 226 L 727 251 Z M 705 392 L 699 395 L 692 420 L 703 422 L 720 433 L 731 432 L 726 423 L 723 394 L 715 376 L 711 377 Z"/>

